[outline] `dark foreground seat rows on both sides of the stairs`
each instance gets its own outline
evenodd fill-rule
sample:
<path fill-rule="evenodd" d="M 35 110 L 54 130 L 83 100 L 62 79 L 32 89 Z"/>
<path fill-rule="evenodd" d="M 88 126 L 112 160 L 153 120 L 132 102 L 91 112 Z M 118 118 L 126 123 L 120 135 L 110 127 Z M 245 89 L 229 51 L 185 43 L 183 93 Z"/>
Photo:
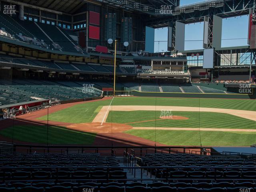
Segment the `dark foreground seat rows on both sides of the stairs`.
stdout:
<path fill-rule="evenodd" d="M 137 164 L 146 168 L 136 169 L 139 175 L 136 178 L 135 169 L 120 166 L 115 156 L 97 153 L 0 154 L 0 191 L 255 191 L 254 159 L 194 154 L 145 154 L 139 159 Z M 140 179 L 140 174 L 146 174 L 148 178 Z"/>

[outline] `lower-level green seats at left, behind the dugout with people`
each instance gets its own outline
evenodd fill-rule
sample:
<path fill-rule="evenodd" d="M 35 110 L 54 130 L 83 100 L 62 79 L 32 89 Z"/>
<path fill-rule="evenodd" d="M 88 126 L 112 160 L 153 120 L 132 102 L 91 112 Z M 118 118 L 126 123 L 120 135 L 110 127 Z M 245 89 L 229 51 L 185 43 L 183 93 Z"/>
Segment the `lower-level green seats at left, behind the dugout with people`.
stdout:
<path fill-rule="evenodd" d="M 32 101 L 31 97 L 50 100 L 72 100 L 97 97 L 102 92 L 96 88 L 86 87 L 74 82 L 38 81 L 38 80 L 0 80 L 0 105 Z"/>

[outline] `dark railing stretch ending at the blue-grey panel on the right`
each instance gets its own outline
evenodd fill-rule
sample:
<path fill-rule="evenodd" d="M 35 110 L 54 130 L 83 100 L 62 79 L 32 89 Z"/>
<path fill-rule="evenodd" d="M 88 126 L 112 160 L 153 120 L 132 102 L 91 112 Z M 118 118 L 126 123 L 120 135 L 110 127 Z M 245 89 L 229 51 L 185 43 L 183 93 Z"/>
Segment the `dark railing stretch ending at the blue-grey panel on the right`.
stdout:
<path fill-rule="evenodd" d="M 1 153 L 0 148 L 0 153 Z M 108 155 L 129 152 L 134 156 L 142 156 L 148 153 L 195 153 L 201 151 L 204 153 L 210 148 L 200 146 L 75 146 L 75 145 L 29 145 L 29 144 L 12 144 L 12 152 L 23 153 L 100 153 Z"/>

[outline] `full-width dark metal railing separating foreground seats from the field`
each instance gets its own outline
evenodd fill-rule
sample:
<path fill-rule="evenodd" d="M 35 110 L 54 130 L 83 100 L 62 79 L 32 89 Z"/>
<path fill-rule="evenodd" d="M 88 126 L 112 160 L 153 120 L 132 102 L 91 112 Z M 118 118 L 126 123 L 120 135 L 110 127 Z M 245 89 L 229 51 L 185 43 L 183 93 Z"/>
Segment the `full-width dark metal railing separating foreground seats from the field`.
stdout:
<path fill-rule="evenodd" d="M 195 154 L 195 155 L 206 155 L 212 156 L 214 158 L 218 157 L 229 157 L 229 158 L 255 158 L 256 154 L 250 153 L 240 153 L 240 152 L 212 152 L 211 148 L 204 148 L 200 146 L 54 146 L 54 145 L 28 145 L 28 144 L 11 144 L 11 143 L 2 143 L 0 147 L 0 154 L 3 153 L 60 153 L 60 154 L 69 154 L 69 153 L 99 153 L 102 156 L 120 156 L 124 154 L 127 158 L 129 156 L 142 157 L 146 154 L 152 153 L 186 153 L 186 154 Z M 8 147 L 5 145 L 8 144 Z M 1 143 L 0 143 L 1 146 Z M 11 146 L 11 147 L 9 147 Z M 130 158 L 132 158 L 130 157 Z"/>

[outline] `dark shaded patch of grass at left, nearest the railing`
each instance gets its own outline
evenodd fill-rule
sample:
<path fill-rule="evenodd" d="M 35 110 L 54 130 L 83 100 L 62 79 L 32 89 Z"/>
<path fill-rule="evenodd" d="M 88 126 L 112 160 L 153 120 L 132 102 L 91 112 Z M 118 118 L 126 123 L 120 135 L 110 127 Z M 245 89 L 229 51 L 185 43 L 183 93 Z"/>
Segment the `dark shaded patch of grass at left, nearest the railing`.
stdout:
<path fill-rule="evenodd" d="M 13 134 L 13 135 L 12 135 Z M 0 135 L 14 140 L 47 144 L 47 126 L 14 126 L 0 130 Z M 83 144 L 94 142 L 96 134 L 69 130 L 64 127 L 49 126 L 48 144 Z"/>

